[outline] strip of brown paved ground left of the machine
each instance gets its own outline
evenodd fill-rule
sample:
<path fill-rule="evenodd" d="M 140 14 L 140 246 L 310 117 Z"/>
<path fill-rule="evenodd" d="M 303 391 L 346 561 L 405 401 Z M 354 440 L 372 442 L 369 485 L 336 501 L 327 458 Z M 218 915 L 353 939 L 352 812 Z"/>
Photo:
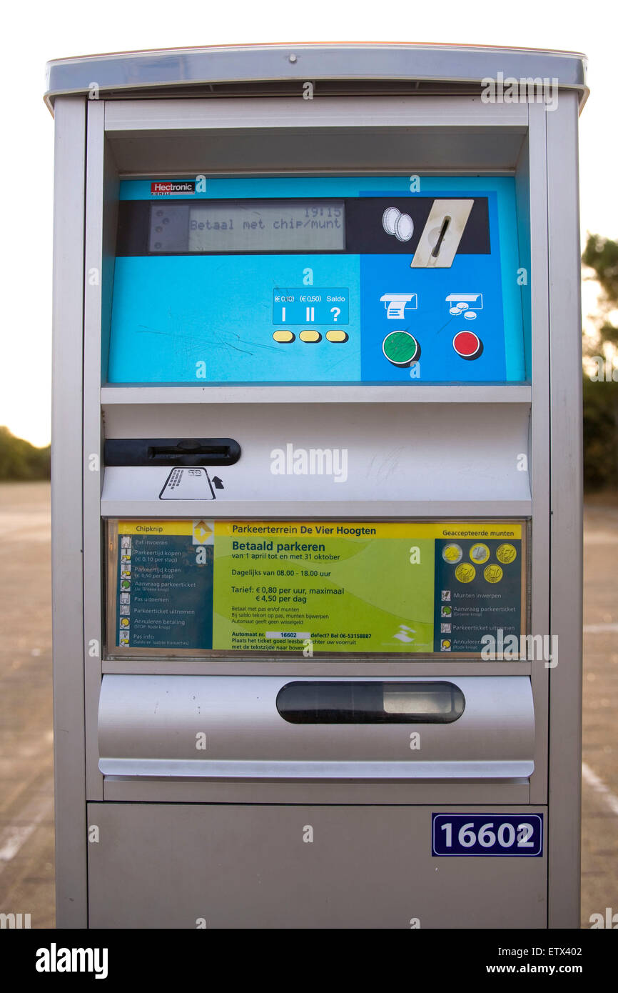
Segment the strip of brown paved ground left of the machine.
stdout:
<path fill-rule="evenodd" d="M 0 912 L 54 926 L 50 488 L 0 485 Z"/>

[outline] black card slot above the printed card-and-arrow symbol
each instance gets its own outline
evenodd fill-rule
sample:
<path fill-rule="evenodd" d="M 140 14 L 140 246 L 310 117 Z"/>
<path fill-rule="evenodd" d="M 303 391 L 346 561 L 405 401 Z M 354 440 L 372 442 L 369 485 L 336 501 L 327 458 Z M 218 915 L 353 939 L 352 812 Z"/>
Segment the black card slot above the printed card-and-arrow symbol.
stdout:
<path fill-rule="evenodd" d="M 113 438 L 104 459 L 106 466 L 233 466 L 240 445 L 233 438 Z"/>

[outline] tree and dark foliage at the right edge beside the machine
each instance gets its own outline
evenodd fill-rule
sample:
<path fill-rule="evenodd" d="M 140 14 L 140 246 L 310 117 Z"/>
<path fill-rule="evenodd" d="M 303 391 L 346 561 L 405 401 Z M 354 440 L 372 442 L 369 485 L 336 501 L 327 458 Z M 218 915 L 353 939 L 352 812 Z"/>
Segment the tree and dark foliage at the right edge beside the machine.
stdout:
<path fill-rule="evenodd" d="M 618 309 L 618 241 L 588 234 L 581 256 L 591 270 L 589 278 L 601 288 L 595 321 L 598 341 L 584 338 L 583 476 L 587 490 L 618 487 L 618 327 L 612 312 Z"/>

